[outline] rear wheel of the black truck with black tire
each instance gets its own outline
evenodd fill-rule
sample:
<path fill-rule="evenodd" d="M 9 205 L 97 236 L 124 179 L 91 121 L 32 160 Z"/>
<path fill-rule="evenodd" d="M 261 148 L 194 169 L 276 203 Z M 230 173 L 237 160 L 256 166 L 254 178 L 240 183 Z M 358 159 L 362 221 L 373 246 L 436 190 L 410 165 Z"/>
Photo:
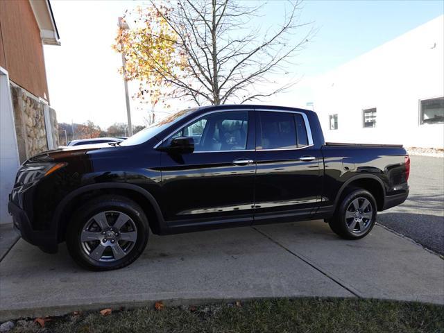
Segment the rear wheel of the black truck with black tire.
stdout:
<path fill-rule="evenodd" d="M 369 202 L 369 206 L 365 207 L 366 210 L 358 210 L 358 212 L 353 213 L 355 205 L 352 203 L 355 202 L 359 203 L 359 205 L 364 205 L 366 204 L 365 199 Z M 361 212 L 361 214 L 359 212 Z M 352 213 L 355 215 L 350 217 Z M 364 214 L 368 216 L 368 219 L 364 218 Z M 349 217 L 346 218 L 345 216 Z M 373 226 L 376 223 L 376 217 L 377 205 L 373 195 L 366 189 L 355 189 L 350 191 L 342 198 L 334 216 L 332 219 L 328 220 L 328 224 L 330 225 L 332 231 L 343 239 L 361 239 L 366 237 L 366 235 L 373 229 Z M 353 225 L 355 225 L 355 227 L 351 228 Z M 359 228 L 362 229 L 359 230 Z"/>

